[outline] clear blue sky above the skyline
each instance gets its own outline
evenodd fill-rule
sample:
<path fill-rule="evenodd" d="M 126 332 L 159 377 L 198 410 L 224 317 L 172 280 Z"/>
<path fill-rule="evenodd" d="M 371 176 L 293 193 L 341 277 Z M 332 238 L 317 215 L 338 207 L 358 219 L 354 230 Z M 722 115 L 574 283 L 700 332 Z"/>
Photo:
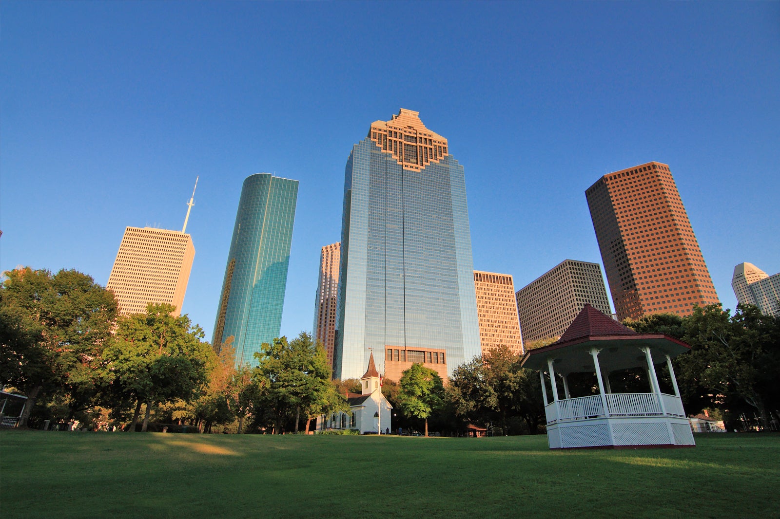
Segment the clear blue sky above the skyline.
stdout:
<path fill-rule="evenodd" d="M 584 191 L 669 164 L 718 296 L 780 271 L 780 2 L 0 4 L 0 269 L 105 284 L 127 225 L 187 231 L 211 340 L 243 179 L 300 181 L 282 334 L 371 122 L 419 111 L 466 171 L 474 268 L 601 263 Z"/>

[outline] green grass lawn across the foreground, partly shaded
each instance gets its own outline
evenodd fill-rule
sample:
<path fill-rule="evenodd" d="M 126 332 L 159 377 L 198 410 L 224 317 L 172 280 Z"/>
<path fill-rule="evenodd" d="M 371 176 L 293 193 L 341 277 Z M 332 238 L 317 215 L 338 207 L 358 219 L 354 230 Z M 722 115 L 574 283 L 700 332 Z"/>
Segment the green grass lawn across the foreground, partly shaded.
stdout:
<path fill-rule="evenodd" d="M 12 517 L 778 517 L 780 436 L 551 451 L 546 436 L 0 433 Z"/>

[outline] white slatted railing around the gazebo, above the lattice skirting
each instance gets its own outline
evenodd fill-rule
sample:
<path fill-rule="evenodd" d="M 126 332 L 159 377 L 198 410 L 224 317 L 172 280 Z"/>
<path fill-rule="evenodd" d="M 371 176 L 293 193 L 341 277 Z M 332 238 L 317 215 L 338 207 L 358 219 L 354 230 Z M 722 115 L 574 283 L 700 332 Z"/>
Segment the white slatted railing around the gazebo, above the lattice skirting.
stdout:
<path fill-rule="evenodd" d="M 563 398 L 557 402 L 550 402 L 544 407 L 547 422 L 568 422 L 605 416 L 616 418 L 662 416 L 663 410 L 666 411 L 666 415 L 685 416 L 683 402 L 679 397 L 671 394 L 661 394 L 664 401 L 663 410 L 661 402 L 658 401 L 658 394 L 655 393 L 608 393 L 604 396 L 607 400 L 608 413 L 604 411 L 600 394 Z"/>

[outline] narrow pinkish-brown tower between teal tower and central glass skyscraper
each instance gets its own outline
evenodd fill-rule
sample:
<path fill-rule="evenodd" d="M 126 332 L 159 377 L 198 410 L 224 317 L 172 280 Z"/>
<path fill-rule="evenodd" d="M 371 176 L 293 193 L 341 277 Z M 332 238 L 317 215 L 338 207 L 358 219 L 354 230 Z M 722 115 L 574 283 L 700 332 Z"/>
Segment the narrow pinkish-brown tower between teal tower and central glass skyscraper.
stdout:
<path fill-rule="evenodd" d="M 339 265 L 341 242 L 325 245 L 320 251 L 320 276 L 314 303 L 314 341 L 320 341 L 333 365 L 333 344 L 336 331 L 336 301 L 339 296 Z"/>

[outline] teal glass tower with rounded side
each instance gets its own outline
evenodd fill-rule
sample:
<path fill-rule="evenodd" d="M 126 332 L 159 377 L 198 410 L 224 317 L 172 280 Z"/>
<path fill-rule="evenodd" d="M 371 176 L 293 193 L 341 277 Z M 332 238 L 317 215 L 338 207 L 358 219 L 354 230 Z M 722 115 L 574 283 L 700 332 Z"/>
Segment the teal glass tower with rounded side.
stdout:
<path fill-rule="evenodd" d="M 236 365 L 279 337 L 298 181 L 258 173 L 241 188 L 212 346 L 233 337 Z"/>

